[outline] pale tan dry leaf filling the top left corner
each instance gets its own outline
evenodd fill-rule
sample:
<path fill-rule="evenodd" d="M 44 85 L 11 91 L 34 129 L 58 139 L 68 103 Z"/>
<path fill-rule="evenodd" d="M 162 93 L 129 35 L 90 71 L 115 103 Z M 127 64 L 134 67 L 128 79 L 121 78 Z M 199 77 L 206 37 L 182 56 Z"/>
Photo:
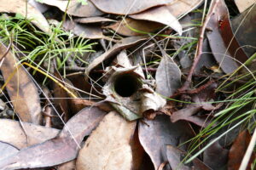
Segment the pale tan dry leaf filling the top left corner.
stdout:
<path fill-rule="evenodd" d="M 44 15 L 41 14 L 37 8 L 34 8 L 30 3 L 27 3 L 26 0 L 9 0 L 8 2 L 2 1 L 0 3 L 0 12 L 4 13 L 15 13 L 21 14 L 26 17 L 26 19 L 32 20 L 32 23 L 38 26 L 44 32 L 49 32 L 49 24 L 44 18 Z"/>

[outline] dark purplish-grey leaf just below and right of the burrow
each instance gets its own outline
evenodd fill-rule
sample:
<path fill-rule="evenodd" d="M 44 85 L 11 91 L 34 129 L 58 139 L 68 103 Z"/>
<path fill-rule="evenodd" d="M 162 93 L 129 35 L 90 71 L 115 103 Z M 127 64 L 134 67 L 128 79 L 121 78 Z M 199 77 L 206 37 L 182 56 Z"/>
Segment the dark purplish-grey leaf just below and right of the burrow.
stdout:
<path fill-rule="evenodd" d="M 157 169 L 167 161 L 166 144 L 177 146 L 193 136 L 187 122 L 172 123 L 169 116 L 156 116 L 154 120 L 139 122 L 139 139 Z M 183 145 L 185 147 L 185 145 Z M 169 168 L 170 169 L 170 168 Z"/>

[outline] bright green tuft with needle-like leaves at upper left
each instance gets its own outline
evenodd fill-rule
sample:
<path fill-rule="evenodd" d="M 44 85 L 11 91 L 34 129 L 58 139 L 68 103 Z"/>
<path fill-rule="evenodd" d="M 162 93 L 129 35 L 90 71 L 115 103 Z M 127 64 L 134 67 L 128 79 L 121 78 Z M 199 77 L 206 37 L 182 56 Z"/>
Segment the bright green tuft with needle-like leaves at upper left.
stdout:
<path fill-rule="evenodd" d="M 51 63 L 55 59 L 58 69 L 63 69 L 64 75 L 67 59 L 73 61 L 79 59 L 87 65 L 80 56 L 84 52 L 94 52 L 92 46 L 96 42 L 83 37 L 73 35 L 71 31 L 64 31 L 61 23 L 58 26 L 50 26 L 51 34 L 48 35 L 43 31 L 38 31 L 32 26 L 31 20 L 16 15 L 9 17 L 7 15 L 0 16 L 0 41 L 9 42 L 10 37 L 20 51 L 26 54 L 26 57 L 20 59 L 21 62 L 37 63 L 37 68 L 47 63 L 47 71 L 51 68 Z M 17 52 L 19 53 L 19 52 Z"/>

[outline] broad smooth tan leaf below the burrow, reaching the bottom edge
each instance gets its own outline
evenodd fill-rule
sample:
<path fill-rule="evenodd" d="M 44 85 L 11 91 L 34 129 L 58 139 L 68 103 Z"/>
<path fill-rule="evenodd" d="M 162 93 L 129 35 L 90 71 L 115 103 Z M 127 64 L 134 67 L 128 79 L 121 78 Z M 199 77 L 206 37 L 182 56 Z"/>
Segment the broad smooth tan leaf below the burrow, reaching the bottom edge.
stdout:
<path fill-rule="evenodd" d="M 130 170 L 131 139 L 137 122 L 127 122 L 112 111 L 104 117 L 79 151 L 78 170 Z"/>

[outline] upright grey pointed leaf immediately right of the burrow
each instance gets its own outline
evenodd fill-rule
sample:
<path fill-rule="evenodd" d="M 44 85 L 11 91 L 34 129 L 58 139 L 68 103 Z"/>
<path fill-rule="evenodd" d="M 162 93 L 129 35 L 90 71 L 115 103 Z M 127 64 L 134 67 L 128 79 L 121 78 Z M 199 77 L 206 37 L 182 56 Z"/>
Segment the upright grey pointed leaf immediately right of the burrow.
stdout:
<path fill-rule="evenodd" d="M 163 96 L 171 96 L 181 85 L 181 71 L 173 59 L 163 54 L 155 73 L 155 92 Z"/>

